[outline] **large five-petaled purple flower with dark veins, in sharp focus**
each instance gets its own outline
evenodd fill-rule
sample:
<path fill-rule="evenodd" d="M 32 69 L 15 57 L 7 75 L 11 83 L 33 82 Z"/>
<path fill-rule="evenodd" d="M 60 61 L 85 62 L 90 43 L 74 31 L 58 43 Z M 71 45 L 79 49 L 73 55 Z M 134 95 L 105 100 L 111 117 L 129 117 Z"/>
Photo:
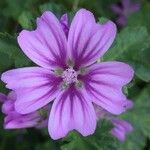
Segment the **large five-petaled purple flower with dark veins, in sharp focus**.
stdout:
<path fill-rule="evenodd" d="M 62 22 L 51 12 L 44 12 L 35 31 L 23 30 L 18 36 L 23 52 L 40 67 L 14 69 L 2 75 L 6 87 L 17 93 L 15 108 L 19 113 L 34 112 L 53 101 L 48 123 L 53 139 L 74 129 L 83 136 L 93 134 L 93 103 L 112 114 L 124 112 L 129 101 L 122 87 L 133 78 L 127 64 L 96 63 L 114 41 L 113 22 L 97 24 L 91 12 L 81 9 L 68 28 L 66 36 Z"/>

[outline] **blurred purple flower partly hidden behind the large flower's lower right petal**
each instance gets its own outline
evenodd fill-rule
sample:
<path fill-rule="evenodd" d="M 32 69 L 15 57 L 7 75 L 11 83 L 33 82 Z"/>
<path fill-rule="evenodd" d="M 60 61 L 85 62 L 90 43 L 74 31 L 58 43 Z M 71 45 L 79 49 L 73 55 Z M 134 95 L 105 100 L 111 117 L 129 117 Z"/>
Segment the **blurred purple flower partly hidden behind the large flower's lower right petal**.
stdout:
<path fill-rule="evenodd" d="M 133 127 L 127 121 L 121 120 L 113 116 L 108 111 L 104 110 L 103 108 L 94 105 L 96 110 L 97 120 L 106 119 L 112 122 L 114 127 L 111 130 L 111 134 L 115 136 L 120 141 L 125 141 L 125 135 L 127 133 L 132 132 Z M 133 107 L 133 103 L 129 101 L 127 105 L 127 109 L 131 109 Z"/>

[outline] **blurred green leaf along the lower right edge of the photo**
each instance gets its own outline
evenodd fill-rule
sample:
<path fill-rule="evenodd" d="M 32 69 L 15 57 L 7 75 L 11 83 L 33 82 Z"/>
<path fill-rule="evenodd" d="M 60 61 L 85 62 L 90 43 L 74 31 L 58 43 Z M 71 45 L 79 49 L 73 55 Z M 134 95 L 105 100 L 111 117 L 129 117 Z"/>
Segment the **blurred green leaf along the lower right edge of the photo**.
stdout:
<path fill-rule="evenodd" d="M 150 85 L 145 87 L 136 98 L 134 107 L 122 114 L 133 126 L 124 144 L 118 145 L 119 150 L 141 150 L 146 144 L 146 137 L 150 138 Z"/>

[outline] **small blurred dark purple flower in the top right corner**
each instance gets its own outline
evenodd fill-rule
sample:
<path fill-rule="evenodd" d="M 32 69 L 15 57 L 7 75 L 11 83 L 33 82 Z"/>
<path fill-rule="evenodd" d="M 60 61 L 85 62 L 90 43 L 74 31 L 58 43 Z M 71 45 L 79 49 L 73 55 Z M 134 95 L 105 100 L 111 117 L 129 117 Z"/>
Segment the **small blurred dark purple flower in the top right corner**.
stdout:
<path fill-rule="evenodd" d="M 130 0 L 121 0 L 121 4 L 113 4 L 111 6 L 112 11 L 118 15 L 117 24 L 125 26 L 127 24 L 127 18 L 140 9 L 140 3 Z"/>

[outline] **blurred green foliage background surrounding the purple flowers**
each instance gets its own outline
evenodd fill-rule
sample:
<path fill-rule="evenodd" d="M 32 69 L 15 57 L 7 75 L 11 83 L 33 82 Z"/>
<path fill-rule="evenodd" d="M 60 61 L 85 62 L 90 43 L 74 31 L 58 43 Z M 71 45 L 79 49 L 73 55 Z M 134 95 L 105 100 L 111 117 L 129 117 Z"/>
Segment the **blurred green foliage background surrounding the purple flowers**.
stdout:
<path fill-rule="evenodd" d="M 16 36 L 23 29 L 34 29 L 35 19 L 50 10 L 60 18 L 65 12 L 70 19 L 79 8 L 92 11 L 97 19 L 116 20 L 110 6 L 119 0 L 0 0 L 0 74 L 11 68 L 32 65 L 22 53 Z M 101 121 L 94 135 L 82 137 L 71 132 L 53 141 L 47 129 L 4 130 L 0 113 L 0 150 L 150 150 L 150 1 L 143 0 L 141 9 L 128 17 L 125 27 L 118 27 L 113 46 L 103 61 L 120 60 L 133 66 L 135 77 L 125 87 L 134 108 L 120 117 L 128 120 L 134 131 L 120 142 L 109 133 L 111 125 Z M 2 82 L 0 92 L 7 93 Z"/>

